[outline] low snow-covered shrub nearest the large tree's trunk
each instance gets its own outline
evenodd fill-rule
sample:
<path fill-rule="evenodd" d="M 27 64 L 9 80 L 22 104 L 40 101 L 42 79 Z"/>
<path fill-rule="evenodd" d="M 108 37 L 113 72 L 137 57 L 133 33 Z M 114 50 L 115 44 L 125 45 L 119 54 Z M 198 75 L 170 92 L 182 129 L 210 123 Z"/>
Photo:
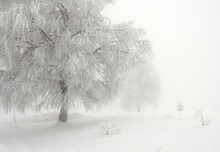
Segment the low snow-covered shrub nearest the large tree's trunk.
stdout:
<path fill-rule="evenodd" d="M 104 136 L 112 136 L 121 132 L 121 128 L 117 124 L 101 124 L 100 130 Z"/>

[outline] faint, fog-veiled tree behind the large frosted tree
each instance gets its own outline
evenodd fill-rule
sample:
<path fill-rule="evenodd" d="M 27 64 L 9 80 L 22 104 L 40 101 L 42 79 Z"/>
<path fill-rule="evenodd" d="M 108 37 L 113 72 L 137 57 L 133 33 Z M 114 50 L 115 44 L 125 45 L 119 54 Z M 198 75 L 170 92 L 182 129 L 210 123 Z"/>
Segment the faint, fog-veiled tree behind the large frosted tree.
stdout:
<path fill-rule="evenodd" d="M 120 90 L 121 106 L 126 111 L 154 107 L 160 95 L 159 76 L 151 64 L 139 65 L 127 72 Z"/>

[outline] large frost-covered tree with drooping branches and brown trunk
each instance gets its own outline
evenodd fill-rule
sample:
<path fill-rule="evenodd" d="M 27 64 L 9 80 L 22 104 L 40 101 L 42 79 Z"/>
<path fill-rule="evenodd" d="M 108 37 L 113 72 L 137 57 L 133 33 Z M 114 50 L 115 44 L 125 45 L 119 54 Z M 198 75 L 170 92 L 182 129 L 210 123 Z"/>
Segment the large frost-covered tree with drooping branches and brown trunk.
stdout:
<path fill-rule="evenodd" d="M 102 16 L 112 0 L 25 0 L 0 12 L 1 107 L 102 106 L 121 73 L 149 55 L 143 31 Z"/>

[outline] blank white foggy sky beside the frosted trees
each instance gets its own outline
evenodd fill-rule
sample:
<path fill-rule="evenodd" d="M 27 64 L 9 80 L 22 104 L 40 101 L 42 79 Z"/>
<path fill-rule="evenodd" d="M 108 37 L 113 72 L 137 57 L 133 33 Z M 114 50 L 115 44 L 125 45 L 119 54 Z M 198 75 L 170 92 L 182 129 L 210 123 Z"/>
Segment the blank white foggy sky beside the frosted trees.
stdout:
<path fill-rule="evenodd" d="M 161 75 L 161 104 L 220 108 L 220 1 L 118 0 L 104 14 L 145 28 Z"/>

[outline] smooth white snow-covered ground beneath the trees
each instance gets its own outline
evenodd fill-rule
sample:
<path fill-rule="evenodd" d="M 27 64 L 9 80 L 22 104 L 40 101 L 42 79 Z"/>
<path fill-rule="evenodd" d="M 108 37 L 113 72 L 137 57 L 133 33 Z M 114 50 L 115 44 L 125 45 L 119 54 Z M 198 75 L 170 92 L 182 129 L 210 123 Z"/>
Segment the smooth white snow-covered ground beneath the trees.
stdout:
<path fill-rule="evenodd" d="M 0 152 L 219 152 L 220 115 L 202 126 L 195 112 L 0 116 Z"/>

